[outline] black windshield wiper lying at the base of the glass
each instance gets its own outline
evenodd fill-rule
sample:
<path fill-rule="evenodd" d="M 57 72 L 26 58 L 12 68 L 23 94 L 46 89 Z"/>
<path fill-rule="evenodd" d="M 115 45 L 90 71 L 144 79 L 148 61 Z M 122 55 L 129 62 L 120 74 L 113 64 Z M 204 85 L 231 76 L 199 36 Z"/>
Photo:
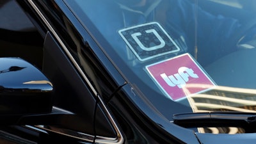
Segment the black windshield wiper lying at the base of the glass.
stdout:
<path fill-rule="evenodd" d="M 173 115 L 173 123 L 182 127 L 244 127 L 256 129 L 256 113 L 209 112 Z"/>

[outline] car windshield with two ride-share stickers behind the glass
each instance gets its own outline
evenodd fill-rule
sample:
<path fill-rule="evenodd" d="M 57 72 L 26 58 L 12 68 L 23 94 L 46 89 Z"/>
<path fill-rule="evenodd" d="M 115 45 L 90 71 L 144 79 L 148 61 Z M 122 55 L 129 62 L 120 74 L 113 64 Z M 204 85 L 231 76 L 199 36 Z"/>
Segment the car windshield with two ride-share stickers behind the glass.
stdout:
<path fill-rule="evenodd" d="M 164 116 L 255 113 L 255 0 L 63 1 Z"/>

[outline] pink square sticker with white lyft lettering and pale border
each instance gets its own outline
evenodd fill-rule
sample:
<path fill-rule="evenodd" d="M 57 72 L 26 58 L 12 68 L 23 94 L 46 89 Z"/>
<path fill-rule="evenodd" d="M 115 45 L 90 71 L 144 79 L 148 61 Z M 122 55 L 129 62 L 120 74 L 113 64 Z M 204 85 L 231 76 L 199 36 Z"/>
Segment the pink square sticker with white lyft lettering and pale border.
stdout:
<path fill-rule="evenodd" d="M 188 54 L 148 65 L 147 70 L 157 85 L 172 100 L 204 92 L 215 83 Z"/>

